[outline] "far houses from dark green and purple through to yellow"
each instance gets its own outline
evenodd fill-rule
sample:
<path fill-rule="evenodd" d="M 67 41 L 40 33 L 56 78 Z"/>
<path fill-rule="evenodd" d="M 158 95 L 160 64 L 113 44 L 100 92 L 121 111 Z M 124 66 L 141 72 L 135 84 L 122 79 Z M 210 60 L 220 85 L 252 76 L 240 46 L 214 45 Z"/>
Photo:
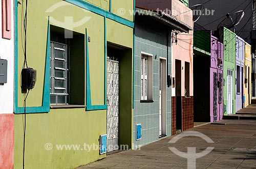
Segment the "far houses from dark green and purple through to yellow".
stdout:
<path fill-rule="evenodd" d="M 194 118 L 215 122 L 251 103 L 251 47 L 225 27 L 194 29 Z"/>

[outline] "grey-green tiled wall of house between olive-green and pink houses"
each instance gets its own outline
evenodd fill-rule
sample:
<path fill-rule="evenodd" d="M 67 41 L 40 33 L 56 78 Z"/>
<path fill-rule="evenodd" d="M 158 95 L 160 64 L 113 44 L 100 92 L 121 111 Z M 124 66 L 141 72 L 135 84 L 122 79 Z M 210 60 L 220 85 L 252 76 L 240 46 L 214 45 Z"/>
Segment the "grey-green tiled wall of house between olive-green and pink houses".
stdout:
<path fill-rule="evenodd" d="M 139 21 L 138 21 L 139 23 Z M 160 26 L 135 27 L 135 58 L 134 58 L 134 149 L 159 139 L 159 58 L 167 56 L 166 31 Z M 170 36 L 169 36 L 170 37 Z M 170 40 L 168 55 L 171 56 Z M 140 61 L 141 51 L 153 54 L 153 103 L 140 102 Z M 157 58 L 155 59 L 155 56 Z M 172 71 L 171 59 L 168 59 L 168 74 Z M 172 135 L 172 88 L 166 86 L 166 134 Z M 141 124 L 141 139 L 136 140 L 136 124 Z"/>

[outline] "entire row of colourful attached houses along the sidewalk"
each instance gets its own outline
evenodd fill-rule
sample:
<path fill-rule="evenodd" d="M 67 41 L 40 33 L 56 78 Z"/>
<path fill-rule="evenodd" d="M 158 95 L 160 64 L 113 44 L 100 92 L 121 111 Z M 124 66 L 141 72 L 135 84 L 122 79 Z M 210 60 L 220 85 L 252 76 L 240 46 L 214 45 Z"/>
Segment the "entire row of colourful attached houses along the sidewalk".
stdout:
<path fill-rule="evenodd" d="M 250 46 L 194 31 L 188 0 L 1 9 L 0 168 L 75 168 L 250 104 Z"/>

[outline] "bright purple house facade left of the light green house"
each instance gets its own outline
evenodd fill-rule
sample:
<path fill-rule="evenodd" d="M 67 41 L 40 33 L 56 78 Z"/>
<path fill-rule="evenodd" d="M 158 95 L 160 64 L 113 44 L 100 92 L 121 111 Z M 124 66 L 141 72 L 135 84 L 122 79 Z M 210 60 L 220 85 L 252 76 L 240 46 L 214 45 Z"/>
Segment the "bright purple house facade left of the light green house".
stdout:
<path fill-rule="evenodd" d="M 223 117 L 223 44 L 211 36 L 210 122 Z M 217 85 L 217 86 L 216 86 Z"/>

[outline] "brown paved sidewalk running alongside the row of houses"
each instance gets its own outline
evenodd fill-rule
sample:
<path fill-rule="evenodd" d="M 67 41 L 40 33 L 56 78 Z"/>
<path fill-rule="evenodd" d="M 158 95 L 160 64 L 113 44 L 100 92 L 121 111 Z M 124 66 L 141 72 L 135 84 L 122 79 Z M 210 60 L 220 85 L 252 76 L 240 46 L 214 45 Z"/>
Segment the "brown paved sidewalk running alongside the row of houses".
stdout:
<path fill-rule="evenodd" d="M 196 147 L 197 153 L 207 147 L 214 147 L 209 154 L 196 160 L 197 168 L 256 168 L 256 121 L 223 120 L 188 131 L 201 132 L 214 143 L 208 144 L 202 138 L 189 136 L 170 144 L 169 140 L 175 137 L 171 136 L 144 146 L 141 150 L 113 154 L 77 169 L 187 168 L 187 159 L 174 154 L 169 147 L 185 153 L 187 147 Z"/>

